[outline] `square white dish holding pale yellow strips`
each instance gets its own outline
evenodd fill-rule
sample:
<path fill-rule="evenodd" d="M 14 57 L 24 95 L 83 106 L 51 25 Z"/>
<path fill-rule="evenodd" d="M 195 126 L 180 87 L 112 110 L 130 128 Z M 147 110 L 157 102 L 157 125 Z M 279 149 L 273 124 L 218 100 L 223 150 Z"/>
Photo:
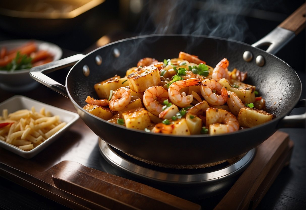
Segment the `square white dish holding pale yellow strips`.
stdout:
<path fill-rule="evenodd" d="M 58 132 L 56 132 L 53 136 L 46 139 L 45 141 L 43 141 L 43 143 L 39 144 L 38 146 L 36 146 L 30 151 L 24 151 L 12 144 L 9 144 L 9 143 L 6 143 L 5 141 L 0 140 L 1 147 L 17 155 L 20 155 L 24 158 L 27 158 L 27 159 L 32 158 L 33 156 L 41 152 L 43 149 L 45 149 L 52 142 L 54 142 L 59 136 L 61 136 L 61 134 L 65 132 L 66 129 L 69 128 L 69 126 L 71 126 L 80 117 L 78 114 L 74 112 L 63 110 L 57 107 L 53 107 L 48 104 L 41 103 L 39 101 L 30 99 L 28 97 L 19 96 L 19 95 L 13 96 L 3 101 L 2 103 L 0 103 L 0 112 L 1 112 L 0 115 L 2 115 L 3 109 L 8 109 L 8 113 L 12 113 L 20 109 L 31 110 L 33 106 L 35 107 L 36 111 L 40 111 L 42 107 L 45 107 L 46 111 L 50 111 L 52 115 L 59 115 L 60 120 L 62 122 L 66 122 L 67 124 L 62 129 L 60 129 Z"/>

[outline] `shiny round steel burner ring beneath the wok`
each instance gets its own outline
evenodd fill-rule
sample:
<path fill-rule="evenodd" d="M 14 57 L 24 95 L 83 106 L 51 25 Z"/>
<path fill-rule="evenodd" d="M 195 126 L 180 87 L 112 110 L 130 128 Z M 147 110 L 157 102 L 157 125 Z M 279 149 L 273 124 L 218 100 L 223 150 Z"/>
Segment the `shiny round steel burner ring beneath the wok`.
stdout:
<path fill-rule="evenodd" d="M 140 160 L 111 147 L 99 138 L 99 150 L 108 163 L 121 171 L 137 178 L 171 185 L 211 185 L 226 181 L 240 174 L 252 162 L 256 149 L 247 152 L 233 163 L 221 163 L 215 166 L 197 169 L 164 168 Z"/>

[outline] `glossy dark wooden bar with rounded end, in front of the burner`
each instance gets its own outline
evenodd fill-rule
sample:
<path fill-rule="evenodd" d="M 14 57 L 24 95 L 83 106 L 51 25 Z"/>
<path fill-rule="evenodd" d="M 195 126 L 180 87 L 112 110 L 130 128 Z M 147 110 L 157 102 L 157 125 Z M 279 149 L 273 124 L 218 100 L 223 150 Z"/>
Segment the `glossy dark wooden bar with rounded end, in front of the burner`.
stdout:
<path fill-rule="evenodd" d="M 52 167 L 54 185 L 87 201 L 91 209 L 201 209 L 201 206 L 150 186 L 80 163 Z"/>

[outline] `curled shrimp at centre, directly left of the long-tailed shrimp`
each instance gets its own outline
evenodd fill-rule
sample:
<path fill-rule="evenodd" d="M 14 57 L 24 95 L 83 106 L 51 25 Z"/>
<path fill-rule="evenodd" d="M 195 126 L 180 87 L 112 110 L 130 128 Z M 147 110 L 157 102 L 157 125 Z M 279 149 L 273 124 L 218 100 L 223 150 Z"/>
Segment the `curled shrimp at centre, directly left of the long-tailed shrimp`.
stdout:
<path fill-rule="evenodd" d="M 162 102 L 166 99 L 168 99 L 168 93 L 162 86 L 153 86 L 144 91 L 144 106 L 155 116 L 162 112 Z"/>

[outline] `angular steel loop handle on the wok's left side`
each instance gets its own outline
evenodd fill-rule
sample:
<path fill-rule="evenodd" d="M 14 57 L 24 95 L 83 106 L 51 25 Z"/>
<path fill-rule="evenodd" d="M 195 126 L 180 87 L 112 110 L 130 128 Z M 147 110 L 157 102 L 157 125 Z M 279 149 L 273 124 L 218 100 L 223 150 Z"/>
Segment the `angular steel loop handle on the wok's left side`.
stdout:
<path fill-rule="evenodd" d="M 40 82 L 41 84 L 55 90 L 56 92 L 59 92 L 63 96 L 66 96 L 69 98 L 66 87 L 57 81 L 51 79 L 48 77 L 45 73 L 50 73 L 59 69 L 63 69 L 69 66 L 73 66 L 76 62 L 78 62 L 80 59 L 84 58 L 85 55 L 83 54 L 76 54 L 67 58 L 63 58 L 58 61 L 53 61 L 41 66 L 36 66 L 30 69 L 30 76 Z"/>

